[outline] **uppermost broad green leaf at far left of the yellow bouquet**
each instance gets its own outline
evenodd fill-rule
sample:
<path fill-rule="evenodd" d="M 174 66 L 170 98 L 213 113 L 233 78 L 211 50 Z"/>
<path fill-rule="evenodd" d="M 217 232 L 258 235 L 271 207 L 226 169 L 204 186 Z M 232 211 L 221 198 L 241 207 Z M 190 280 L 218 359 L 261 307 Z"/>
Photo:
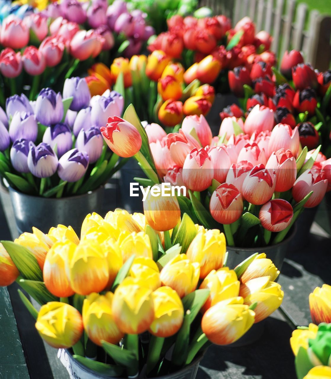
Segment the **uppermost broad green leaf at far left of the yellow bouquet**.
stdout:
<path fill-rule="evenodd" d="M 24 279 L 42 280 L 42 272 L 36 257 L 29 249 L 12 241 L 1 241 L 1 243 Z"/>

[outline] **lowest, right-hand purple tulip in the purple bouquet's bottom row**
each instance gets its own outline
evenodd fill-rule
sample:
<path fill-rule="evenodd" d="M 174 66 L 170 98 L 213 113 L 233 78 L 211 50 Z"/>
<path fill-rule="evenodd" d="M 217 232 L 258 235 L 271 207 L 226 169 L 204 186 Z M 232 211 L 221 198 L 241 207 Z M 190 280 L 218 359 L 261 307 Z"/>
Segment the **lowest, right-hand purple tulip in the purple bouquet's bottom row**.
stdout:
<path fill-rule="evenodd" d="M 86 172 L 89 158 L 85 151 L 72 149 L 59 160 L 58 175 L 67 182 L 77 182 Z"/>

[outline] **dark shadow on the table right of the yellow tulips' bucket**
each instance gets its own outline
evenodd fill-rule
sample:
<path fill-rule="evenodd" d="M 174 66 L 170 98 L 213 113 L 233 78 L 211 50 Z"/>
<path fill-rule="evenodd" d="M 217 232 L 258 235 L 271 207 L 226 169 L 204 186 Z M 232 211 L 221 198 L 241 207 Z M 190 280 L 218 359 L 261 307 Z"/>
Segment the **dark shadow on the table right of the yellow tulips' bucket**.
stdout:
<path fill-rule="evenodd" d="M 292 329 L 269 317 L 259 341 L 240 348 L 212 345 L 202 360 L 197 379 L 293 379 Z"/>

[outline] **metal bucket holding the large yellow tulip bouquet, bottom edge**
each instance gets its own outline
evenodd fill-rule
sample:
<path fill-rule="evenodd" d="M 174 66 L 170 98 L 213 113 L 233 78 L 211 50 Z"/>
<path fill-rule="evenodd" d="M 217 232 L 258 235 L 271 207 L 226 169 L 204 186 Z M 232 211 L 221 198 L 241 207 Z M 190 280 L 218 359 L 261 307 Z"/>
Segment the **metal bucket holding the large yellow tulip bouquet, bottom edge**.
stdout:
<path fill-rule="evenodd" d="M 82 365 L 82 363 L 77 362 L 72 358 L 71 352 L 69 350 L 60 349 L 58 351 L 58 358 L 60 359 L 63 366 L 69 373 L 70 379 L 109 379 L 110 376 L 96 373 L 90 370 L 88 367 Z M 199 363 L 203 358 L 203 354 L 200 354 L 192 363 L 185 366 L 175 373 L 171 373 L 164 376 L 158 376 L 157 379 L 195 379 L 196 373 L 198 372 Z"/>

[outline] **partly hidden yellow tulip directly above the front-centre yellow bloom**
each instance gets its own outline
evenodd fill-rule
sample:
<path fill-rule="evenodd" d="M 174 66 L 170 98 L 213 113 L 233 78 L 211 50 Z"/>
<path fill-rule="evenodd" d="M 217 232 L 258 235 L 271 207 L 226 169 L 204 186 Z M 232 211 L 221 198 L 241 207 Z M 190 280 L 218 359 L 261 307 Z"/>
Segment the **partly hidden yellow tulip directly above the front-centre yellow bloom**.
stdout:
<path fill-rule="evenodd" d="M 151 258 L 135 258 L 130 268 L 130 276 L 146 282 L 152 291 L 161 287 L 160 271 Z"/>

